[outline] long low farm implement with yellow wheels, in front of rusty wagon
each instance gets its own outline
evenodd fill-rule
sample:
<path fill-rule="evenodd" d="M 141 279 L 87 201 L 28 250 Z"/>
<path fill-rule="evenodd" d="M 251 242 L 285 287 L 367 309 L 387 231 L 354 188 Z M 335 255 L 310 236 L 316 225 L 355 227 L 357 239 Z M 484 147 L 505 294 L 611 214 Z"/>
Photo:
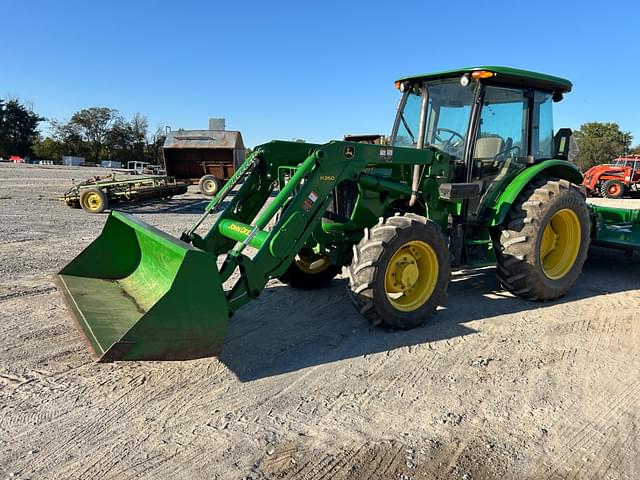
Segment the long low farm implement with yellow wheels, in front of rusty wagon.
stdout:
<path fill-rule="evenodd" d="M 132 163 L 132 162 L 129 162 Z M 187 192 L 187 184 L 166 175 L 112 173 L 75 183 L 61 197 L 68 207 L 88 213 L 102 213 L 109 205 L 154 198 L 169 199 Z"/>

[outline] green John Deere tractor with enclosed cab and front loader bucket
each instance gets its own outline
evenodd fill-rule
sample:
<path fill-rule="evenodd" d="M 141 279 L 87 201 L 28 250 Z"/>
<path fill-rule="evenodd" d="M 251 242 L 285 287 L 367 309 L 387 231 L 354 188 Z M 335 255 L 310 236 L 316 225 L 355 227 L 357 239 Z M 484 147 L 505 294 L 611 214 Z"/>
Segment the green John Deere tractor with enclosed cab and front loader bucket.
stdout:
<path fill-rule="evenodd" d="M 514 295 L 558 298 L 592 238 L 640 245 L 638 211 L 589 208 L 571 132 L 554 135 L 571 86 L 504 67 L 402 78 L 387 145 L 258 146 L 180 240 L 113 212 L 60 290 L 104 361 L 218 354 L 270 279 L 320 288 L 343 268 L 357 310 L 385 328 L 433 315 L 451 265 L 497 265 Z"/>

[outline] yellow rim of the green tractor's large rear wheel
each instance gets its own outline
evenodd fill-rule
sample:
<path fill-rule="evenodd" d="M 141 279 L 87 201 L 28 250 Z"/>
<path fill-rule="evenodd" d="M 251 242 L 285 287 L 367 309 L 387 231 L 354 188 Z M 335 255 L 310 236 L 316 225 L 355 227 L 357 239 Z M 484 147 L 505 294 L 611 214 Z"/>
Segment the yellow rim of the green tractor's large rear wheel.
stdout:
<path fill-rule="evenodd" d="M 551 280 L 564 277 L 576 263 L 582 231 L 576 212 L 568 208 L 558 210 L 545 227 L 540 242 L 542 271 Z"/>

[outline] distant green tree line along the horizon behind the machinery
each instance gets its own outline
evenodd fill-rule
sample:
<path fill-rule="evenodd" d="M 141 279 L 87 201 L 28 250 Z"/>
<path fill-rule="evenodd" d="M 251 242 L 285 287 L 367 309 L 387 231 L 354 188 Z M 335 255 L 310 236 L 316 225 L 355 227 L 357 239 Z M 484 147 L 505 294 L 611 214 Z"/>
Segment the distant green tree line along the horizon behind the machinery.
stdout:
<path fill-rule="evenodd" d="M 147 119 L 139 113 L 127 120 L 112 108 L 86 108 L 69 120 L 50 120 L 47 136 L 38 132 L 44 120 L 17 100 L 0 99 L 0 157 L 60 160 L 63 155 L 75 155 L 96 163 L 160 163 L 164 132 L 158 128 L 149 134 Z M 574 137 L 579 148 L 575 162 L 583 171 L 621 155 L 640 154 L 640 145 L 632 148 L 633 136 L 617 123 L 587 122 Z"/>

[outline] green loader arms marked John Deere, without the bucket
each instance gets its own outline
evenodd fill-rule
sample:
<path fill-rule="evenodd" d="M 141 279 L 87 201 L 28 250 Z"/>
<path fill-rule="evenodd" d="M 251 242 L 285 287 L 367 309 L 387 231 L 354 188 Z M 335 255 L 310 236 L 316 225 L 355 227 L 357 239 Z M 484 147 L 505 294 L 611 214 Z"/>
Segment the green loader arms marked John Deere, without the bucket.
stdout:
<path fill-rule="evenodd" d="M 249 163 L 256 162 L 255 167 L 208 233 L 201 237 L 191 232 L 189 236 L 197 248 L 216 255 L 226 253 L 219 270 L 223 282 L 240 269 L 239 279 L 225 292 L 232 313 L 257 297 L 270 278 L 284 273 L 319 227 L 331 192 L 340 182 L 352 180 L 363 190 L 408 198 L 408 184 L 366 173 L 365 169 L 375 172 L 376 166 L 388 164 L 391 159 L 395 168 L 429 166 L 437 153 L 433 149 L 391 149 L 352 142 L 265 144 L 247 159 Z M 267 204 L 276 188 L 279 169 L 296 164 L 296 160 L 299 163 L 295 173 Z M 232 178 L 230 183 L 233 181 Z M 214 197 L 204 216 L 212 213 L 228 193 L 221 191 Z M 277 223 L 267 230 L 278 211 L 282 213 Z M 243 253 L 247 246 L 257 249 L 251 257 Z"/>

